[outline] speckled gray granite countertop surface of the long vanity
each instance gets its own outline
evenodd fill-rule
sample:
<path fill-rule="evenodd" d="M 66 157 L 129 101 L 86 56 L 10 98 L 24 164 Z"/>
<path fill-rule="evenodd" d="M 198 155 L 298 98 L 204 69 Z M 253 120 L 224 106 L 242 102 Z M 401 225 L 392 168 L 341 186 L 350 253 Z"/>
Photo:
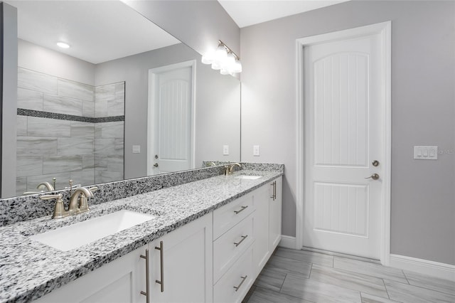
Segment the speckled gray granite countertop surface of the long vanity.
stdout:
<path fill-rule="evenodd" d="M 236 179 L 239 174 L 257 175 L 262 178 Z M 215 176 L 93 205 L 90 206 L 89 212 L 77 216 L 58 220 L 45 216 L 2 227 L 0 302 L 27 302 L 42 297 L 51 290 L 277 179 L 282 174 L 282 171 L 242 170 L 232 176 Z M 122 209 L 157 216 L 67 252 L 30 238 L 37 233 Z"/>

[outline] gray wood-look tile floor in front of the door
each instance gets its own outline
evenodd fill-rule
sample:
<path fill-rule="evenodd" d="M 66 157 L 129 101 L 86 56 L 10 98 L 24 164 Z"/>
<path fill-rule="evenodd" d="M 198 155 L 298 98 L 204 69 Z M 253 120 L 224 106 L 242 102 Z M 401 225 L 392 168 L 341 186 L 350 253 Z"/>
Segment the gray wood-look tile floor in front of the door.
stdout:
<path fill-rule="evenodd" d="M 455 303 L 455 282 L 338 255 L 278 248 L 243 303 Z"/>

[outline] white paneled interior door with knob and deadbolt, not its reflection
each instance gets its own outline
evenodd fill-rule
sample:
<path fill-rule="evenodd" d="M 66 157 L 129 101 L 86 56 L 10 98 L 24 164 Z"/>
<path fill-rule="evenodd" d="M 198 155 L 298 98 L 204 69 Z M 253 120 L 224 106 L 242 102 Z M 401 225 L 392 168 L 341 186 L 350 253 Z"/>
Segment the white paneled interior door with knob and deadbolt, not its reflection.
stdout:
<path fill-rule="evenodd" d="M 380 258 L 381 58 L 379 34 L 304 48 L 306 247 Z"/>

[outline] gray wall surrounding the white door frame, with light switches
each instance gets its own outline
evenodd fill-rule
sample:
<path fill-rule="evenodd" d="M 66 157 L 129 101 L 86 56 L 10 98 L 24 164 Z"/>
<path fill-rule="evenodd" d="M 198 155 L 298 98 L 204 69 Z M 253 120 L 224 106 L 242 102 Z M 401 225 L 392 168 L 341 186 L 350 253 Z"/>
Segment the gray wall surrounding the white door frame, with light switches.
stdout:
<path fill-rule="evenodd" d="M 284 235 L 295 235 L 296 38 L 390 20 L 391 252 L 455 265 L 454 16 L 453 1 L 349 1 L 242 28 L 242 161 L 285 164 Z M 414 145 L 444 153 L 417 161 Z"/>

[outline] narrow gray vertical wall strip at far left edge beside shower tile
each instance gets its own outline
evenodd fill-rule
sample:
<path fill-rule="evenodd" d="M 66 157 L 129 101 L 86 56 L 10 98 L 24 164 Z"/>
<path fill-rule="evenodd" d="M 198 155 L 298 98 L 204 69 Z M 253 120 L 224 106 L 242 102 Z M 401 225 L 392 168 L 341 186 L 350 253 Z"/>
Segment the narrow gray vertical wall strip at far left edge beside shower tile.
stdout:
<path fill-rule="evenodd" d="M 16 193 L 17 10 L 0 3 L 3 70 L 1 83 L 1 196 Z M 12 77 L 10 77 L 12 75 Z"/>

